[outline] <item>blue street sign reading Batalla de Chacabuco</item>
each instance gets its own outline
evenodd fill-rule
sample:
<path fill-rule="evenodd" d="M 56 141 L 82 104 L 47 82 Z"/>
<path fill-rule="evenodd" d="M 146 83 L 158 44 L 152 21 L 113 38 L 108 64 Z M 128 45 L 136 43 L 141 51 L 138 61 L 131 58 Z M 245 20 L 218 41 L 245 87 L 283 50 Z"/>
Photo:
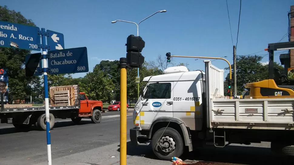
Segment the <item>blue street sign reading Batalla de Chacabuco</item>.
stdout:
<path fill-rule="evenodd" d="M 48 51 L 49 74 L 89 72 L 86 47 Z"/>

